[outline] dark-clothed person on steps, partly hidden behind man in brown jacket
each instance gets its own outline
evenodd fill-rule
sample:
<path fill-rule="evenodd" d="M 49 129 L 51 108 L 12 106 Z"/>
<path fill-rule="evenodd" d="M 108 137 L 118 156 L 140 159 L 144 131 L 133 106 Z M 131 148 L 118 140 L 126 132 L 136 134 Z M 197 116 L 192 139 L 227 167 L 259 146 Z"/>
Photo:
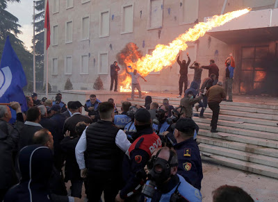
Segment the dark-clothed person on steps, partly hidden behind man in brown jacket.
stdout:
<path fill-rule="evenodd" d="M 200 89 L 201 94 L 204 93 L 204 90 L 208 90 L 211 86 L 213 86 L 213 82 L 215 81 L 215 74 L 211 74 L 211 76 L 209 76 L 208 78 L 205 78 L 202 84 L 202 87 Z M 206 95 L 203 96 L 202 102 L 199 102 L 198 106 L 195 106 L 196 111 L 199 110 L 199 108 L 201 109 L 201 112 L 199 113 L 199 118 L 205 119 L 206 117 L 204 117 L 204 111 L 206 110 L 206 107 L 208 106 L 208 97 Z"/>

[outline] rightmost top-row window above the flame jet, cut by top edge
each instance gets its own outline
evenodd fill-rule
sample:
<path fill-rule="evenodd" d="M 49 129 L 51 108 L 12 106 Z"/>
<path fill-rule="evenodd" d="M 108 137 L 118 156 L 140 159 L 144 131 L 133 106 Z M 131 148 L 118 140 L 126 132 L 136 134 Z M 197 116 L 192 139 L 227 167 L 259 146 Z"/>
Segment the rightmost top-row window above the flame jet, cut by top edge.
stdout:
<path fill-rule="evenodd" d="M 179 10 L 179 24 L 193 24 L 197 22 L 199 12 L 199 0 L 182 0 Z"/>

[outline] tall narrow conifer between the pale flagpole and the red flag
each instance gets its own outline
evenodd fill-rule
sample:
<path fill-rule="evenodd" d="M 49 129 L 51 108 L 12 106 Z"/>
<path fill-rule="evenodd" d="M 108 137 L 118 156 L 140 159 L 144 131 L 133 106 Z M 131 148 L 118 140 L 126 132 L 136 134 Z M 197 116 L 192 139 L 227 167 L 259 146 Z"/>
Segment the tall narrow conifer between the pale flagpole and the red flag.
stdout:
<path fill-rule="evenodd" d="M 1 1 L 1 0 L 0 0 Z M 36 78 L 43 80 L 44 74 L 44 0 L 35 1 L 35 67 Z M 33 43 L 32 38 L 32 43 Z M 31 47 L 33 49 L 33 46 Z"/>

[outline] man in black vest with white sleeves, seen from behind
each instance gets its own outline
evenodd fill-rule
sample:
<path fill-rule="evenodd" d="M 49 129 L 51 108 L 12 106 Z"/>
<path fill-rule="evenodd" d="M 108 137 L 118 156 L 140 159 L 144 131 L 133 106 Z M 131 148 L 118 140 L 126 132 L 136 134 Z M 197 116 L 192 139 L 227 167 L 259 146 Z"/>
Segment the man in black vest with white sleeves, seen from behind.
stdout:
<path fill-rule="evenodd" d="M 104 191 L 105 201 L 114 201 L 120 187 L 122 151 L 131 143 L 126 134 L 113 124 L 112 103 L 99 104 L 101 120 L 90 124 L 83 131 L 75 148 L 76 160 L 81 169 L 81 177 L 87 176 L 84 151 L 88 153 L 89 201 L 99 201 Z"/>

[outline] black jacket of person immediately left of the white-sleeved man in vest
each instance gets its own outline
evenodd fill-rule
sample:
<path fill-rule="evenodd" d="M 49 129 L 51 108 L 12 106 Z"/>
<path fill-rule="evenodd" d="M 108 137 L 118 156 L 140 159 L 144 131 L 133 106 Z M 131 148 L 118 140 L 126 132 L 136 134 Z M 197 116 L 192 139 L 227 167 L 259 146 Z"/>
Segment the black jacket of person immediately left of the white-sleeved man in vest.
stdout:
<path fill-rule="evenodd" d="M 75 158 L 75 146 L 79 142 L 80 137 L 71 139 L 69 136 L 65 137 L 61 142 L 61 149 L 65 154 L 65 181 L 80 180 L 79 165 Z"/>

